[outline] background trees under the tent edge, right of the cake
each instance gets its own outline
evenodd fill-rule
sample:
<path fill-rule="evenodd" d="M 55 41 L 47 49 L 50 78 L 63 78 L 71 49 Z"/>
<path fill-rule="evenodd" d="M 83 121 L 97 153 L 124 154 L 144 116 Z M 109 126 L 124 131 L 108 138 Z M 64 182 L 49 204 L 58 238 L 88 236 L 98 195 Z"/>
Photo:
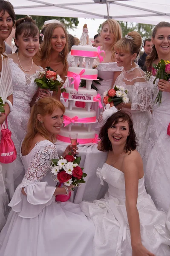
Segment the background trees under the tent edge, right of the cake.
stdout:
<path fill-rule="evenodd" d="M 152 30 L 154 25 L 142 24 L 142 23 L 133 23 L 133 22 L 124 22 L 118 21 L 121 25 L 122 36 L 127 35 L 128 32 L 137 31 L 141 37 L 144 39 L 150 38 L 152 36 Z M 98 32 L 100 32 L 101 25 L 98 28 Z"/>

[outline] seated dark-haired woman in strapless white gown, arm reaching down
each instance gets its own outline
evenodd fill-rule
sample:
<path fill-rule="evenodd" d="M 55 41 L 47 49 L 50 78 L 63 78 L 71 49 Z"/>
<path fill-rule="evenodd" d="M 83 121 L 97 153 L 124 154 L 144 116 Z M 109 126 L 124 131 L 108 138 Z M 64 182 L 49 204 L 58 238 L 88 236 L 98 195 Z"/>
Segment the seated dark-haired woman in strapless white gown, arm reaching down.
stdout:
<path fill-rule="evenodd" d="M 169 256 L 166 214 L 145 190 L 132 120 L 115 107 L 105 110 L 103 119 L 99 137 L 108 157 L 97 176 L 108 183 L 108 192 L 104 199 L 80 203 L 95 224 L 94 256 Z"/>

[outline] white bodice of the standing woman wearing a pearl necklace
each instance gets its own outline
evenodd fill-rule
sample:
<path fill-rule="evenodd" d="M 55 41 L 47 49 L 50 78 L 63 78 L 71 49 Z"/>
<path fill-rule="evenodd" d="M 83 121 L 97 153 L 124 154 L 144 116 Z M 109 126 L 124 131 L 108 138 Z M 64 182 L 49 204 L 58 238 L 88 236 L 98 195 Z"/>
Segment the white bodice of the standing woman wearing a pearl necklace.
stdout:
<path fill-rule="evenodd" d="M 14 63 L 13 59 L 9 59 L 9 61 L 12 71 L 13 106 L 17 108 L 17 111 L 27 112 L 29 103 L 37 91 L 37 84 L 34 82 L 35 74 L 26 74 L 18 64 Z"/>

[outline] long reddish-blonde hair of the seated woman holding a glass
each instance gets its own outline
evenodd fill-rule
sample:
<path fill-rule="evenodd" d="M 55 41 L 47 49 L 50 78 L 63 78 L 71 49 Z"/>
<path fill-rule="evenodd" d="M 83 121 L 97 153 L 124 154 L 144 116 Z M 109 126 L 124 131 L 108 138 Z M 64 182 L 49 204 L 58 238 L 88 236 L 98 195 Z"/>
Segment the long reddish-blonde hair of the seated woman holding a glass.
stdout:
<path fill-rule="evenodd" d="M 22 151 L 26 152 L 26 154 L 31 147 L 32 140 L 37 134 L 40 134 L 42 137 L 44 137 L 46 140 L 51 141 L 52 143 L 56 141 L 56 135 L 53 134 L 52 137 L 49 136 L 46 128 L 37 119 L 38 114 L 40 114 L 41 116 L 51 115 L 56 108 L 60 108 L 63 113 L 65 112 L 64 105 L 60 101 L 52 97 L 40 99 L 32 107 L 31 115 L 27 126 L 27 134 L 22 145 Z"/>

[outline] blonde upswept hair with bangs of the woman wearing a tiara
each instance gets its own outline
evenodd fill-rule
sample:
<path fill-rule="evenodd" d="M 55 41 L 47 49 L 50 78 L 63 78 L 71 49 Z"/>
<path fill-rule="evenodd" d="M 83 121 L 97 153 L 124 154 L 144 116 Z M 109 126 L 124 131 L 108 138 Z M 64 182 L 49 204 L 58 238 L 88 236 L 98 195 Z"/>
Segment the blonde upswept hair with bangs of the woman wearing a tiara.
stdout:
<path fill-rule="evenodd" d="M 141 45 L 142 45 L 142 38 L 141 35 L 136 32 L 132 31 L 127 34 L 127 36 L 133 38 L 128 39 L 126 37 L 121 38 L 116 44 L 115 44 L 115 51 L 118 52 L 130 52 L 132 55 L 134 53 L 137 54 L 137 56 L 140 53 Z"/>

